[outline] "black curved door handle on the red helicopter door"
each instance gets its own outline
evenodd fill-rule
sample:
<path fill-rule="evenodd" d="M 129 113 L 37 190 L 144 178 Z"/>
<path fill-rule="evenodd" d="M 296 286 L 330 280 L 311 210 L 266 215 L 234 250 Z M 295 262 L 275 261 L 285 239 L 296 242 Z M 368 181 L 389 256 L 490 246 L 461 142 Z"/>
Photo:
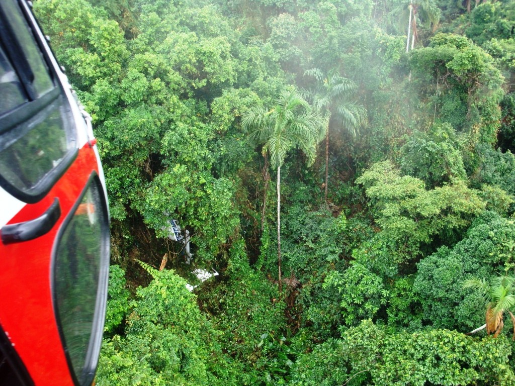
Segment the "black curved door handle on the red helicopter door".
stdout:
<path fill-rule="evenodd" d="M 59 199 L 55 198 L 52 205 L 38 218 L 2 226 L 2 230 L 0 230 L 2 242 L 12 244 L 43 236 L 52 229 L 59 217 L 61 217 L 61 206 L 59 205 Z"/>

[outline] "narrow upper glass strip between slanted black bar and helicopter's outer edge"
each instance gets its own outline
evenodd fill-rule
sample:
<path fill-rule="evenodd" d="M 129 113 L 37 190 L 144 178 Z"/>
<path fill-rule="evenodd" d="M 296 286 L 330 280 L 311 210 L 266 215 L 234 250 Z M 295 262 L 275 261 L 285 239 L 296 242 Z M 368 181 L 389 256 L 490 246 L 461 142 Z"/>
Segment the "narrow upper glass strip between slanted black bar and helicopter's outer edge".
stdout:
<path fill-rule="evenodd" d="M 34 74 L 32 86 L 36 91 L 37 97 L 40 97 L 54 88 L 41 50 L 32 36 L 31 29 L 25 21 L 20 8 L 12 0 L 3 0 L 2 7 L 9 15 L 9 23 L 32 69 Z"/>

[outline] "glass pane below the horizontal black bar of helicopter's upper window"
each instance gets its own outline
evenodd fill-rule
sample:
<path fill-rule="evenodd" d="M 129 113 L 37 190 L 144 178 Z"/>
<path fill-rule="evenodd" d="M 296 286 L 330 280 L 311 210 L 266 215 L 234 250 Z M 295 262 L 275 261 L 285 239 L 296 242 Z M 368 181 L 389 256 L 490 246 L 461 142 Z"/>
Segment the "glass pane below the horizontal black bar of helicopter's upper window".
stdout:
<path fill-rule="evenodd" d="M 70 112 L 59 96 L 44 109 L 0 137 L 0 176 L 8 184 L 30 195 L 31 189 L 58 167 L 75 137 Z"/>

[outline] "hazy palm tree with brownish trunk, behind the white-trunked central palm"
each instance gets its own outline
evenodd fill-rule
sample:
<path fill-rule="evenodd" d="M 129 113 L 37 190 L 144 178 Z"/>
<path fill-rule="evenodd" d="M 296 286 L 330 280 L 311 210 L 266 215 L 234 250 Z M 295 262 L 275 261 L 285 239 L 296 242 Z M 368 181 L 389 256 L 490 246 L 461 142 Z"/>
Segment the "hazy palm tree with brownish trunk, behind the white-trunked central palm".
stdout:
<path fill-rule="evenodd" d="M 304 75 L 315 78 L 316 86 L 308 95 L 312 99 L 313 108 L 322 118 L 319 141 L 325 138 L 325 184 L 324 200 L 327 202 L 328 174 L 329 174 L 329 127 L 332 111 L 336 111 L 341 119 L 342 125 L 353 136 L 356 135 L 360 126 L 365 126 L 367 111 L 357 103 L 354 98 L 357 85 L 350 79 L 340 76 L 335 70 L 331 69 L 327 75 L 321 69 L 312 68 L 307 70 Z"/>

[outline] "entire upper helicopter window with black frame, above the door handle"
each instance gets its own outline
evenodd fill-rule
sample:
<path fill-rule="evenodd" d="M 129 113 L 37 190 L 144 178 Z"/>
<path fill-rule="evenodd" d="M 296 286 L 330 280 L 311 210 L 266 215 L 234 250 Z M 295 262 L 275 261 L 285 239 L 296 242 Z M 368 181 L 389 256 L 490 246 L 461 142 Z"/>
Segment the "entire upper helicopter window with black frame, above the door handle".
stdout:
<path fill-rule="evenodd" d="M 14 0 L 0 2 L 0 49 L 0 186 L 34 203 L 75 159 L 75 121 Z"/>

